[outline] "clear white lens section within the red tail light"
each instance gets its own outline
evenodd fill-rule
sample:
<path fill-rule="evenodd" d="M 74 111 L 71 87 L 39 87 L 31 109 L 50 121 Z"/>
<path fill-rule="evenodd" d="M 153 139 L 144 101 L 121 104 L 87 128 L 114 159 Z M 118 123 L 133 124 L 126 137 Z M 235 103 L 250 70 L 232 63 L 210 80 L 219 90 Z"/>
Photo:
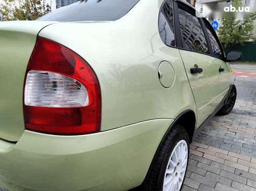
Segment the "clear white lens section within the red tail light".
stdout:
<path fill-rule="evenodd" d="M 89 104 L 86 87 L 65 75 L 30 70 L 25 85 L 25 105 L 82 107 Z"/>

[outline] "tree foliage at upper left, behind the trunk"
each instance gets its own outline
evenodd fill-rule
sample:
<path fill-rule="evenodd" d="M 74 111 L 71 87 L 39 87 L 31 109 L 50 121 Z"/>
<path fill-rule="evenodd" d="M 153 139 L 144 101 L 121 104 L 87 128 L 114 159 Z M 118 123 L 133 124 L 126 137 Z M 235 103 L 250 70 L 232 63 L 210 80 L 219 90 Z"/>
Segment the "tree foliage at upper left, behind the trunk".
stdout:
<path fill-rule="evenodd" d="M 3 0 L 0 3 L 2 20 L 36 20 L 51 12 L 45 0 Z"/>

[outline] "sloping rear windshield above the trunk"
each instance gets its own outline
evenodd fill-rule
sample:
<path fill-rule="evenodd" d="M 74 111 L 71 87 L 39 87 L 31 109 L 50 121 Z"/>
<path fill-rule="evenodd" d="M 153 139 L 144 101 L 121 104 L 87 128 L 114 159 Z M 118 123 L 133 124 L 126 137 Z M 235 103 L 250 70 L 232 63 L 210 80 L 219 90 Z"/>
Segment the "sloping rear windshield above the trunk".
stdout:
<path fill-rule="evenodd" d="M 115 21 L 123 17 L 139 0 L 84 0 L 56 9 L 42 21 Z"/>

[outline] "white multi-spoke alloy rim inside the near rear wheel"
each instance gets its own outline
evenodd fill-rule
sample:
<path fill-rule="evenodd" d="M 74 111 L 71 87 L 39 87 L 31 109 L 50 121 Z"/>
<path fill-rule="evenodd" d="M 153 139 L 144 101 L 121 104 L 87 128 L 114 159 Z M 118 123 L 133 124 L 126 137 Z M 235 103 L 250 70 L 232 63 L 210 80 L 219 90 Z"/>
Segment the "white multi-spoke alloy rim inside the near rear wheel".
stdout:
<path fill-rule="evenodd" d="M 162 190 L 179 191 L 187 169 L 188 144 L 184 140 L 179 141 L 171 152 L 169 158 Z"/>

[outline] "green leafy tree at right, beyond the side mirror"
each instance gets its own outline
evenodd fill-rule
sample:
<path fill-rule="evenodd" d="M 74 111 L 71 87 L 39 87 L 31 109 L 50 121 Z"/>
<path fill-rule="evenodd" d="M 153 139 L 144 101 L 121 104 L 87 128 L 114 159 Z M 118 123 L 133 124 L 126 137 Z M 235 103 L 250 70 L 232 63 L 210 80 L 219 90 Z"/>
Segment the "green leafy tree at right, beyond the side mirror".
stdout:
<path fill-rule="evenodd" d="M 237 8 L 241 4 L 241 0 L 232 0 L 232 3 Z M 253 36 L 253 21 L 255 19 L 256 12 L 251 12 L 250 16 L 245 19 L 222 19 L 222 26 L 218 30 L 220 41 L 224 46 L 230 47 L 251 39 L 255 40 L 255 36 Z"/>

